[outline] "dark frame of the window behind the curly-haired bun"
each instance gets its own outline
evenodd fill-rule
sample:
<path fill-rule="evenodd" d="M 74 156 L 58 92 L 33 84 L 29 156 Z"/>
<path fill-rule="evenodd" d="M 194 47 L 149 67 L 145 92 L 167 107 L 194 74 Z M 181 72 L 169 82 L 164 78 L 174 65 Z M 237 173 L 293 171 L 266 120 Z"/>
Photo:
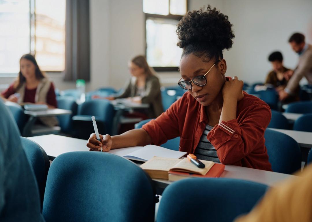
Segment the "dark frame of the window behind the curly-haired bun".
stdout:
<path fill-rule="evenodd" d="M 188 0 L 184 0 L 186 1 L 186 12 L 188 12 L 188 8 L 189 8 L 189 2 Z M 146 41 L 146 21 L 149 18 L 161 18 L 161 19 L 171 19 L 171 20 L 177 20 L 180 21 L 183 18 L 183 15 L 173 15 L 170 14 L 170 0 L 168 0 L 169 4 L 169 14 L 168 15 L 159 15 L 159 14 L 150 14 L 150 13 L 144 13 L 145 15 L 145 22 L 144 22 L 144 40 L 145 40 L 145 57 L 147 59 L 147 41 Z M 143 3 L 143 0 L 142 0 Z M 143 11 L 143 10 L 142 10 Z M 152 67 L 156 72 L 178 72 L 178 66 L 167 66 L 167 67 Z"/>

